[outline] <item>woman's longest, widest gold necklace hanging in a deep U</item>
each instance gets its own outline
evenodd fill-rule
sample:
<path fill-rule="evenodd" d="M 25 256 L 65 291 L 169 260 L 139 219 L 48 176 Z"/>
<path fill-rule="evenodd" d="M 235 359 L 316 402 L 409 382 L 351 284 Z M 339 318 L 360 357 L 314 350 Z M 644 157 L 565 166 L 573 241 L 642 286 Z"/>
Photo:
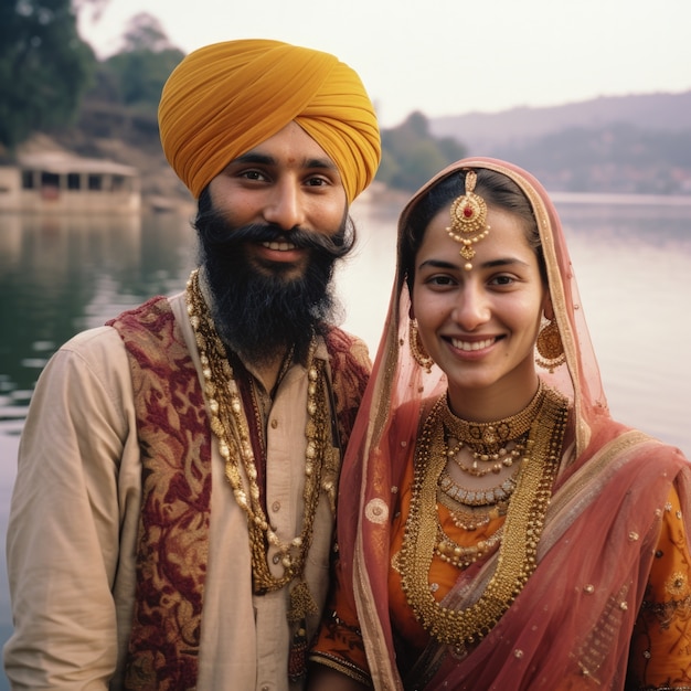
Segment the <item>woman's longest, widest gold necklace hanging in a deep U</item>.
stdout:
<path fill-rule="evenodd" d="M 411 507 L 398 564 L 403 592 L 417 620 L 439 642 L 463 650 L 497 625 L 536 567 L 538 542 L 560 463 L 568 408 L 566 398 L 545 387 L 507 510 L 496 571 L 485 592 L 465 609 L 440 605 L 428 583 L 437 546 L 437 487 L 447 463 L 442 453 L 445 408 L 446 396 L 440 396 L 423 425 L 415 450 Z"/>

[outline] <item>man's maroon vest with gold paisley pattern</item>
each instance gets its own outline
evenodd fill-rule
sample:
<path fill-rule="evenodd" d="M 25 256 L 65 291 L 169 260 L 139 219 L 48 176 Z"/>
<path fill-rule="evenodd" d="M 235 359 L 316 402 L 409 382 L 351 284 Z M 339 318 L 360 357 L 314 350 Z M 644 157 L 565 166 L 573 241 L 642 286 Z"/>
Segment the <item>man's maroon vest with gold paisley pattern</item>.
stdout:
<path fill-rule="evenodd" d="M 194 363 L 167 298 L 108 322 L 132 375 L 142 465 L 135 612 L 125 688 L 194 689 L 211 512 L 211 430 Z M 370 373 L 361 341 L 327 337 L 343 447 Z"/>

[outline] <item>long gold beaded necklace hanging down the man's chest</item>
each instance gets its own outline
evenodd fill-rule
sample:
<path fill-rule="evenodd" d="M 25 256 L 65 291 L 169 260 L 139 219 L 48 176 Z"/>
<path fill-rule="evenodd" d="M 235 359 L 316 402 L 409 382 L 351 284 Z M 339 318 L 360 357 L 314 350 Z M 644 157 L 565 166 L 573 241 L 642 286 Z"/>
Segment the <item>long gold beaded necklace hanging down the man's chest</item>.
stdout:
<path fill-rule="evenodd" d="M 313 361 L 312 343 L 307 363 L 309 384 L 305 430 L 307 449 L 302 492 L 305 503 L 302 530 L 298 536 L 285 542 L 272 528 L 262 506 L 257 467 L 240 390 L 225 346 L 216 332 L 202 296 L 198 269 L 192 272 L 188 281 L 187 305 L 202 363 L 211 429 L 219 440 L 219 449 L 225 461 L 225 477 L 233 489 L 235 501 L 247 515 L 253 587 L 256 594 L 263 595 L 284 587 L 296 577 L 301 580 L 305 559 L 311 544 L 315 514 L 319 503 L 322 461 L 328 446 L 328 403 L 323 363 L 320 360 Z M 247 488 L 243 480 L 243 470 Z M 269 570 L 267 563 L 269 546 L 278 551 L 284 570 L 280 576 L 274 576 Z M 315 605 L 306 584 L 298 584 L 294 588 L 294 594 L 295 597 L 291 599 L 298 602 L 291 603 L 291 608 L 297 608 L 294 613 L 294 620 L 297 620 L 306 612 L 313 610 Z"/>

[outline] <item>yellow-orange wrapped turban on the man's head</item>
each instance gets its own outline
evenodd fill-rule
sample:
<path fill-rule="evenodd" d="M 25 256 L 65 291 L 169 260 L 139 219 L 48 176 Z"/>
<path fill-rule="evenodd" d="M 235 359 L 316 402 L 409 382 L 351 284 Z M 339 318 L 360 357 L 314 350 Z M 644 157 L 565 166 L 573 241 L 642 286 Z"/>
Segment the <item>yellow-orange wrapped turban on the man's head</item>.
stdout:
<path fill-rule="evenodd" d="M 295 120 L 338 166 L 348 201 L 376 172 L 376 116 L 358 74 L 329 53 L 279 41 L 214 43 L 168 78 L 163 152 L 194 198 L 232 160 Z"/>

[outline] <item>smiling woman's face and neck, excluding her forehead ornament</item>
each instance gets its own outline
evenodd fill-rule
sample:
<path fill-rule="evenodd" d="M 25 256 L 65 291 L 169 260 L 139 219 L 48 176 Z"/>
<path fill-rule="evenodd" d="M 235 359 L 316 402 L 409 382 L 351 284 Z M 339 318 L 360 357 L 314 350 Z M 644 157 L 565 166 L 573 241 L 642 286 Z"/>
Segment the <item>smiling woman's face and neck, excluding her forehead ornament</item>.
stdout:
<path fill-rule="evenodd" d="M 490 232 L 472 245 L 466 270 L 460 244 L 446 232 L 449 210 L 432 220 L 415 257 L 412 312 L 423 346 L 447 374 L 455 412 L 469 415 L 470 400 L 491 400 L 498 415 L 509 415 L 536 385 L 534 343 L 546 302 L 538 258 L 521 219 L 490 206 Z"/>

